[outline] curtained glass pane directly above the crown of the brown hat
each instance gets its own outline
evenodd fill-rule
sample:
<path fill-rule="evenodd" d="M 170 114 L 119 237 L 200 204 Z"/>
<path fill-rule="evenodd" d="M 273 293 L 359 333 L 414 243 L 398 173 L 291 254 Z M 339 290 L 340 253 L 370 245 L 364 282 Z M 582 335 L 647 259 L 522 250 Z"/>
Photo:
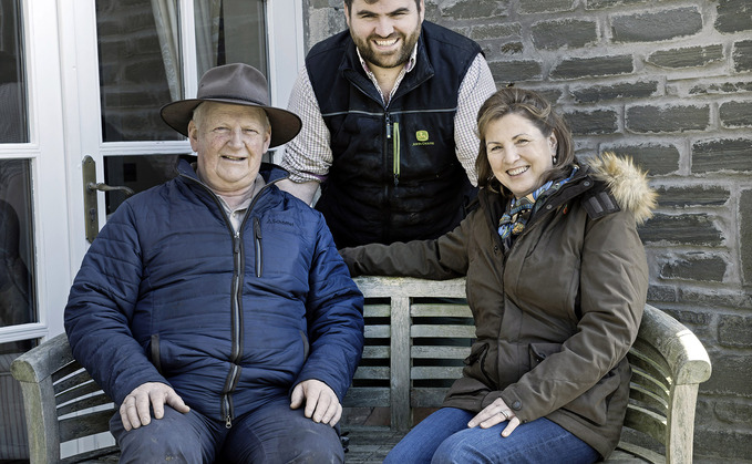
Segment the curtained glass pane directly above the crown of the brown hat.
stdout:
<path fill-rule="evenodd" d="M 264 0 L 195 0 L 198 75 L 247 63 L 268 78 Z"/>

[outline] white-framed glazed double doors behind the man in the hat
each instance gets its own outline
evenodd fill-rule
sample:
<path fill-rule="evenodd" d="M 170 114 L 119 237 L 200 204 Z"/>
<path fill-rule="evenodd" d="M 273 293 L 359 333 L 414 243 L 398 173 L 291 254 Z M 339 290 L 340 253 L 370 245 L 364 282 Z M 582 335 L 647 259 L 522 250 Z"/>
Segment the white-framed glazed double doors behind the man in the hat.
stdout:
<path fill-rule="evenodd" d="M 301 0 L 0 0 L 0 463 L 28 458 L 10 363 L 63 331 L 90 223 L 95 235 L 127 189 L 190 156 L 159 107 L 234 61 L 266 72 L 285 106 L 301 12 Z"/>

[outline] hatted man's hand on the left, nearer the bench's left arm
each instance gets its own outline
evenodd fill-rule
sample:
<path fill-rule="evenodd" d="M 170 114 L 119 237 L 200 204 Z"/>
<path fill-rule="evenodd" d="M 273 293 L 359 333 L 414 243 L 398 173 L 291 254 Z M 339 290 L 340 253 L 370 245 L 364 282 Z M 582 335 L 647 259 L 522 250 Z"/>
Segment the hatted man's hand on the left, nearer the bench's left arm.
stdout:
<path fill-rule="evenodd" d="M 175 411 L 186 413 L 190 411 L 183 399 L 172 386 L 159 382 L 147 382 L 133 389 L 120 406 L 120 419 L 126 431 L 148 425 L 152 422 L 150 406 L 154 409 L 154 419 L 165 415 L 165 404 Z"/>

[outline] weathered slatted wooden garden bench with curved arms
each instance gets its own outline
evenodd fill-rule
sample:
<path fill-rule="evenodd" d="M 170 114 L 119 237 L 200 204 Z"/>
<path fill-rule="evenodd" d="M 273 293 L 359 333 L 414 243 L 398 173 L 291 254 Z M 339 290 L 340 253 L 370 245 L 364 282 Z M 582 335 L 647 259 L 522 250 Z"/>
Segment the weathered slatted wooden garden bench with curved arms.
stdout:
<path fill-rule="evenodd" d="M 346 461 L 380 463 L 413 425 L 413 414 L 439 406 L 460 377 L 473 320 L 464 279 L 356 281 L 365 296 L 367 346 L 344 400 Z M 622 441 L 609 462 L 691 462 L 698 385 L 711 372 L 702 343 L 677 320 L 646 306 L 629 360 L 631 400 Z M 73 360 L 64 334 L 19 357 L 12 373 L 23 389 L 32 463 L 116 461 L 113 448 L 60 458 L 61 443 L 106 433 L 114 413 L 110 399 Z M 389 408 L 389 425 L 352 421 L 373 408 Z"/>

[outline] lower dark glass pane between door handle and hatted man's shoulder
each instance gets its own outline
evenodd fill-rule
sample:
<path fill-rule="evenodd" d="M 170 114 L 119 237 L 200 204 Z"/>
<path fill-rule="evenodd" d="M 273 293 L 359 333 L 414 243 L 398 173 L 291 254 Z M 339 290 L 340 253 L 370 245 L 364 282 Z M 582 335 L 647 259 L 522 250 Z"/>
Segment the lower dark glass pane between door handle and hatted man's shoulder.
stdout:
<path fill-rule="evenodd" d="M 104 158 L 104 182 L 125 186 L 138 193 L 169 181 L 177 175 L 181 155 L 107 156 Z M 194 162 L 194 156 L 186 155 Z M 107 216 L 127 198 L 127 194 L 112 190 L 105 194 Z"/>

